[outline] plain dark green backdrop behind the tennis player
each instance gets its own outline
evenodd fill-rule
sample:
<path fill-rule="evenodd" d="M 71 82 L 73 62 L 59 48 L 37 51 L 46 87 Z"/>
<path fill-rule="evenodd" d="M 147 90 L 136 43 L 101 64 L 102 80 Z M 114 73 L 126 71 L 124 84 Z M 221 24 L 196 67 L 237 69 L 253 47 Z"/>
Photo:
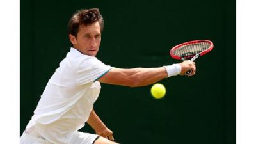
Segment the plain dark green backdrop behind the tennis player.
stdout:
<path fill-rule="evenodd" d="M 196 60 L 196 75 L 150 87 L 102 84 L 95 111 L 122 144 L 236 143 L 236 1 L 20 0 L 20 134 L 47 81 L 70 49 L 67 23 L 81 8 L 100 9 L 105 28 L 97 58 L 120 68 L 179 63 L 170 47 L 209 39 L 214 49 Z M 86 124 L 83 132 L 93 132 Z"/>

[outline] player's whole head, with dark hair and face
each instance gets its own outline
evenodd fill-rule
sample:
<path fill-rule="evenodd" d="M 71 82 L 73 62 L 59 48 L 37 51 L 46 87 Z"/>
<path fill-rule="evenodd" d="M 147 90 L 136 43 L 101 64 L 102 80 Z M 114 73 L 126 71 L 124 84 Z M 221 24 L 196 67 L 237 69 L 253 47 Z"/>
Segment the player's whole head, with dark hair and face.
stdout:
<path fill-rule="evenodd" d="M 72 46 L 83 54 L 96 56 L 103 26 L 104 20 L 99 9 L 77 11 L 68 22 L 68 36 Z"/>

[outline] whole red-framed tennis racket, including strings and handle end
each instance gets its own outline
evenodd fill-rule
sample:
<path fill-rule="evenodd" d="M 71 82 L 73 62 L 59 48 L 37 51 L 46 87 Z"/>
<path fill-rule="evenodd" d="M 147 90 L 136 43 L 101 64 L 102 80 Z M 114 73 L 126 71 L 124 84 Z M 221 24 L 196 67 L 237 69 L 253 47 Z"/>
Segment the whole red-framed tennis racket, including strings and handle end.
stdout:
<path fill-rule="evenodd" d="M 191 60 L 194 61 L 199 56 L 204 56 L 213 49 L 213 43 L 210 40 L 193 40 L 176 45 L 170 50 L 172 58 L 177 60 Z M 185 72 L 186 75 L 192 73 L 192 70 Z"/>

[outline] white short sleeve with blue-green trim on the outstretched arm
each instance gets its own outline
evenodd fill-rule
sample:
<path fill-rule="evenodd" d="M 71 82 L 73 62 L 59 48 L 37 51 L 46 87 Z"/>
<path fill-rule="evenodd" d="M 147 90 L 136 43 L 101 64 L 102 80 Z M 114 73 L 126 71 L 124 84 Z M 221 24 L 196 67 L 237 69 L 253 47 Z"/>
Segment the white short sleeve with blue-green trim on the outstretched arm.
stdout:
<path fill-rule="evenodd" d="M 111 68 L 95 57 L 86 58 L 77 68 L 76 82 L 79 85 L 94 82 L 104 76 Z"/>

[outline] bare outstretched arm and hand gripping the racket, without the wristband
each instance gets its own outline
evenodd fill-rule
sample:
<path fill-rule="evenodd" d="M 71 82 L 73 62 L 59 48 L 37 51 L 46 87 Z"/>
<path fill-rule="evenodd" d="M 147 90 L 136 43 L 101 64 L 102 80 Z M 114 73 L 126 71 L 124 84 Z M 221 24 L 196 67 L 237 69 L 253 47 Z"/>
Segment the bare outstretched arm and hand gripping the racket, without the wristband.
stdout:
<path fill-rule="evenodd" d="M 180 74 L 184 75 L 184 73 L 188 70 L 192 70 L 193 76 L 195 74 L 195 63 L 188 60 L 179 63 L 181 67 Z M 100 77 L 98 81 L 102 83 L 122 85 L 122 86 L 147 86 L 152 83 L 156 83 L 165 77 L 168 77 L 168 70 L 166 67 L 158 67 L 158 68 L 112 68 L 104 74 L 104 76 Z"/>

